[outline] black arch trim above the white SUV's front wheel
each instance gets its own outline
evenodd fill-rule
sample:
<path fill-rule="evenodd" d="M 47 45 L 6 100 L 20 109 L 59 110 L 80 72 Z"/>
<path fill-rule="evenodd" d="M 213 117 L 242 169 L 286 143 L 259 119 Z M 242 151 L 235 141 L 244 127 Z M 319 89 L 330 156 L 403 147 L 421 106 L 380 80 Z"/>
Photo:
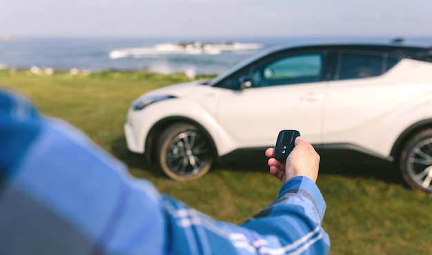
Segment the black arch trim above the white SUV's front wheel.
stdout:
<path fill-rule="evenodd" d="M 197 121 L 187 118 L 185 116 L 169 116 L 167 118 L 161 119 L 153 125 L 152 128 L 150 128 L 150 131 L 148 132 L 148 136 L 146 139 L 146 142 L 144 143 L 145 151 L 146 153 L 146 161 L 150 164 L 155 162 L 156 159 L 156 146 L 157 146 L 157 140 L 161 136 L 161 133 L 166 130 L 170 125 L 173 125 L 175 123 L 188 123 L 195 125 L 199 130 L 201 130 L 210 141 L 210 144 L 212 146 L 212 152 L 216 158 L 217 156 L 217 147 L 215 144 L 215 141 L 213 139 L 213 136 L 204 128 L 203 125 L 198 123 Z"/>

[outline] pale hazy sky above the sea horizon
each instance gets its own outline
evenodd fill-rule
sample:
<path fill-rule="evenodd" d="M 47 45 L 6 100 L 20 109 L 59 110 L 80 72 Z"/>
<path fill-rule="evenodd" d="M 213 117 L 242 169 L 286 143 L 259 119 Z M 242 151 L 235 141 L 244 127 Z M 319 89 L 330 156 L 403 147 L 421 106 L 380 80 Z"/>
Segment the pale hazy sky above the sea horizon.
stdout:
<path fill-rule="evenodd" d="M 0 37 L 431 37 L 432 0 L 0 0 Z"/>

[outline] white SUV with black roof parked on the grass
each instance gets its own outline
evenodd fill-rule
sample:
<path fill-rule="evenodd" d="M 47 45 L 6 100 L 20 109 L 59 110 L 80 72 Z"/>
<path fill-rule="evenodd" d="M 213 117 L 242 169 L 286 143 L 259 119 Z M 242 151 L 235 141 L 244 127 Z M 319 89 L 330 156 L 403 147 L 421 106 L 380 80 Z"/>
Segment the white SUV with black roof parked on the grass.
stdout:
<path fill-rule="evenodd" d="M 128 148 L 185 181 L 233 152 L 264 154 L 280 130 L 300 130 L 322 160 L 337 152 L 393 161 L 411 187 L 432 192 L 431 53 L 367 44 L 268 50 L 212 81 L 139 97 L 124 125 Z"/>

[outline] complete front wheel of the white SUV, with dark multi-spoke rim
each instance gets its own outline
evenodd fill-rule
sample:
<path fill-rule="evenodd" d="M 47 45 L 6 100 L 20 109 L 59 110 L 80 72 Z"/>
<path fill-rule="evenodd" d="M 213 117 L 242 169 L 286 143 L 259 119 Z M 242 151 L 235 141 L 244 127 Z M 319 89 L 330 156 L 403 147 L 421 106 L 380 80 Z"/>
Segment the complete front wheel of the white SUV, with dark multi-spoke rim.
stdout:
<path fill-rule="evenodd" d="M 215 159 L 208 137 L 195 125 L 186 123 L 164 130 L 157 155 L 161 169 L 175 181 L 198 179 L 210 170 Z"/>

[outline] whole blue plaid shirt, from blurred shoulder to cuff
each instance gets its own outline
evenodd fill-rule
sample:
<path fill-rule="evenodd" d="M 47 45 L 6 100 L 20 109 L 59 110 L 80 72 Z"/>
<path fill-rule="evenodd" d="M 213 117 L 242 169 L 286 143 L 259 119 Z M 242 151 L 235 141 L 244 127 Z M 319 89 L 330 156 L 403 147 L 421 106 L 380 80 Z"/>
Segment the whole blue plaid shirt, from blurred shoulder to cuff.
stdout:
<path fill-rule="evenodd" d="M 0 90 L 0 254 L 327 254 L 307 177 L 242 225 L 215 221 L 23 97 Z"/>

